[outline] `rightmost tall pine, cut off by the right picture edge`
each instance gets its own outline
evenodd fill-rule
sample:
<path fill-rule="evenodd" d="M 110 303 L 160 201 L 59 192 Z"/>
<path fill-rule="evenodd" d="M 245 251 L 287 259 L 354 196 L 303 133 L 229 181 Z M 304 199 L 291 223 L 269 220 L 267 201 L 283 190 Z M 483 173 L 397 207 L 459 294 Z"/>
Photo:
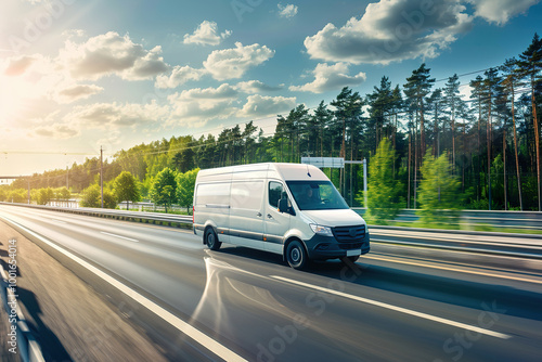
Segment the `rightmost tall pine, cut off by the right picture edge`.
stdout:
<path fill-rule="evenodd" d="M 540 126 L 537 115 L 537 83 L 540 81 L 540 73 L 542 70 L 542 40 L 538 34 L 534 34 L 532 42 L 527 50 L 519 54 L 519 67 L 521 68 L 521 76 L 527 78 L 531 87 L 531 112 L 532 124 L 534 129 L 534 147 L 537 154 L 537 179 L 538 179 L 538 198 L 539 211 L 542 211 L 542 184 L 540 182 Z"/>

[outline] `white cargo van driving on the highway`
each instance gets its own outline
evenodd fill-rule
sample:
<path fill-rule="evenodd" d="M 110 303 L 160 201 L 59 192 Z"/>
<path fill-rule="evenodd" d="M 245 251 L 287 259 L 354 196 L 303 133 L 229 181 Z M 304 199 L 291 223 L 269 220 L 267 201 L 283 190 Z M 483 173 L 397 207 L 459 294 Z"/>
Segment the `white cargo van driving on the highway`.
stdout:
<path fill-rule="evenodd" d="M 222 243 L 283 255 L 295 269 L 309 259 L 369 253 L 365 221 L 317 167 L 255 164 L 202 170 L 193 230 L 211 250 Z M 345 260 L 346 261 L 346 260 Z"/>

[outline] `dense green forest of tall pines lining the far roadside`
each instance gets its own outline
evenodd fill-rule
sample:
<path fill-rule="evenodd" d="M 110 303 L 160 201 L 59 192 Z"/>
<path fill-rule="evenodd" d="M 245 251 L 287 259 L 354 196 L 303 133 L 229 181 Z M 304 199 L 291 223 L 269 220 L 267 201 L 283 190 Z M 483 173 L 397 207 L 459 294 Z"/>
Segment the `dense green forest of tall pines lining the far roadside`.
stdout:
<path fill-rule="evenodd" d="M 299 163 L 304 156 L 366 158 L 371 164 L 378 144 L 387 139 L 395 155 L 391 177 L 401 188 L 404 208 L 418 207 L 421 170 L 429 151 L 435 158 L 447 155 L 464 208 L 542 210 L 540 37 L 535 34 L 522 53 L 500 66 L 438 80 L 430 70 L 422 64 L 397 83 L 382 77 L 369 94 L 345 87 L 330 103 L 322 101 L 313 108 L 300 104 L 278 115 L 272 133 L 248 121 L 217 135 L 172 137 L 122 150 L 104 161 L 103 179 L 112 182 L 128 171 L 141 182 L 142 196 L 147 198 L 153 180 L 167 167 L 184 173 L 240 164 Z M 350 206 L 362 206 L 360 165 L 324 171 Z M 100 159 L 87 159 L 68 170 L 36 173 L 2 186 L 0 198 L 28 184 L 31 189 L 67 186 L 78 193 L 96 183 L 99 172 Z"/>

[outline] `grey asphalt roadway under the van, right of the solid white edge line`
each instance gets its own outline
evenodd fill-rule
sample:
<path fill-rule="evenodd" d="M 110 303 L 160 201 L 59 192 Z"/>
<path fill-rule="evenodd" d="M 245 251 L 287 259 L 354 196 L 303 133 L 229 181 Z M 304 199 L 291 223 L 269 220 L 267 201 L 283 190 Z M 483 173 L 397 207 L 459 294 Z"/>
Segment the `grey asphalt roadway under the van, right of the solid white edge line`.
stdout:
<path fill-rule="evenodd" d="M 326 262 L 298 272 L 266 253 L 211 253 L 171 228 L 3 206 L 0 215 L 152 296 L 247 360 L 535 361 L 541 353 L 540 275 L 481 274 L 384 257 L 374 247 L 352 269 Z"/>

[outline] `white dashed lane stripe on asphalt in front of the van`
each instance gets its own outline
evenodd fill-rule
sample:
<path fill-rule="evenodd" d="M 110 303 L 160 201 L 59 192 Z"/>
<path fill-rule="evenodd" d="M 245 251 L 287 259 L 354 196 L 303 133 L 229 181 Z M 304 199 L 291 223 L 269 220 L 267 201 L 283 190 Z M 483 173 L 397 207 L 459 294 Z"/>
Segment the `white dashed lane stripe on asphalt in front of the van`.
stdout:
<path fill-rule="evenodd" d="M 477 326 L 474 326 L 474 325 L 469 325 L 469 324 L 465 324 L 465 323 L 461 323 L 461 322 L 455 322 L 455 321 L 447 320 L 447 319 L 443 319 L 443 318 L 440 318 L 440 316 L 435 316 L 435 315 L 431 315 L 431 314 L 417 312 L 415 310 L 411 310 L 411 309 L 406 309 L 406 308 L 402 308 L 402 307 L 397 307 L 397 306 L 388 305 L 388 303 L 385 303 L 385 302 L 382 302 L 382 301 L 376 301 L 376 300 L 372 300 L 372 299 L 367 299 L 367 298 L 358 297 L 358 296 L 354 296 L 354 295 L 351 295 L 351 294 L 347 294 L 347 293 L 343 293 L 343 292 L 338 292 L 338 290 L 334 290 L 334 289 L 324 288 L 324 287 L 321 287 L 321 286 L 318 286 L 318 285 L 307 284 L 307 283 L 294 281 L 294 280 L 291 280 L 291 279 L 287 279 L 287 277 L 282 277 L 282 276 L 279 276 L 279 275 L 271 275 L 271 277 L 280 280 L 280 281 L 283 281 L 283 282 L 286 282 L 286 283 L 296 284 L 296 285 L 305 286 L 307 288 L 312 288 L 312 289 L 321 290 L 321 292 L 324 292 L 324 293 L 334 294 L 334 295 L 337 295 L 337 296 L 340 296 L 340 297 L 344 297 L 344 298 L 348 298 L 348 299 L 361 301 L 361 302 L 364 302 L 364 303 L 367 303 L 367 305 L 373 305 L 373 306 L 376 306 L 376 307 L 382 307 L 382 308 L 390 309 L 390 310 L 393 310 L 396 312 L 400 312 L 400 313 L 404 313 L 404 314 L 410 314 L 410 315 L 423 318 L 423 319 L 426 319 L 426 320 L 429 320 L 429 321 L 434 321 L 434 322 L 438 322 L 438 323 L 442 323 L 442 324 L 452 325 L 454 327 L 459 327 L 459 328 L 463 328 L 463 329 L 478 332 L 478 333 L 481 333 L 481 334 L 485 334 L 485 335 L 488 335 L 488 336 L 492 336 L 492 337 L 496 337 L 496 338 L 501 338 L 501 339 L 512 338 L 512 336 L 503 334 L 503 333 L 493 332 L 493 331 L 480 328 L 480 327 L 477 327 Z"/>

